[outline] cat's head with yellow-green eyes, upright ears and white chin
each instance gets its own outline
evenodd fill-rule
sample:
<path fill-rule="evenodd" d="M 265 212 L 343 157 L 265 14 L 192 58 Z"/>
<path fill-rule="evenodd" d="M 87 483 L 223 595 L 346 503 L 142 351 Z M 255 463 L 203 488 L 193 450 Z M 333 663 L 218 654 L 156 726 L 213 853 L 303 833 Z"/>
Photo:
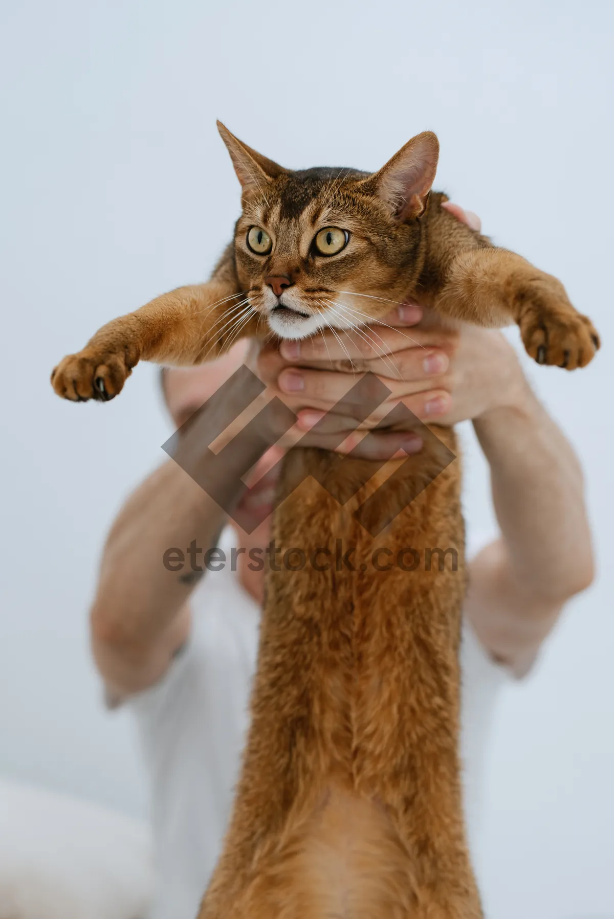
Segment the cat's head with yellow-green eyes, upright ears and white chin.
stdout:
<path fill-rule="evenodd" d="M 292 172 L 218 122 L 243 189 L 236 267 L 251 306 L 282 338 L 379 319 L 421 269 L 421 217 L 438 162 L 426 131 L 379 172 Z"/>

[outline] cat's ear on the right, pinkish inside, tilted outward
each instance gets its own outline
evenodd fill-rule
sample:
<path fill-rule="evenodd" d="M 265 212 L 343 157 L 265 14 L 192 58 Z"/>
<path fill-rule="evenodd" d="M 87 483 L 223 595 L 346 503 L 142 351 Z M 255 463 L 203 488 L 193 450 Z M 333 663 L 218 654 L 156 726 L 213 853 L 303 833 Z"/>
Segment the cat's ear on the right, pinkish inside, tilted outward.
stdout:
<path fill-rule="evenodd" d="M 381 170 L 370 176 L 375 194 L 390 205 L 399 221 L 419 217 L 426 210 L 439 157 L 439 142 L 432 130 L 416 134 Z"/>

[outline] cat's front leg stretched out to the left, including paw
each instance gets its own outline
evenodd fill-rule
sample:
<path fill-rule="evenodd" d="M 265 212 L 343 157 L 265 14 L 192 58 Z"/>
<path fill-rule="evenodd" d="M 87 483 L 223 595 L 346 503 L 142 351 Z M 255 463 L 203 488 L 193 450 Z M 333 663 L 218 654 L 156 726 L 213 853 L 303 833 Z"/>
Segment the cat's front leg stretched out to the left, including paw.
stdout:
<path fill-rule="evenodd" d="M 235 278 L 178 288 L 103 325 L 51 373 L 51 385 L 72 402 L 108 401 L 140 360 L 192 365 L 219 357 L 238 337 L 256 333 L 257 314 Z"/>

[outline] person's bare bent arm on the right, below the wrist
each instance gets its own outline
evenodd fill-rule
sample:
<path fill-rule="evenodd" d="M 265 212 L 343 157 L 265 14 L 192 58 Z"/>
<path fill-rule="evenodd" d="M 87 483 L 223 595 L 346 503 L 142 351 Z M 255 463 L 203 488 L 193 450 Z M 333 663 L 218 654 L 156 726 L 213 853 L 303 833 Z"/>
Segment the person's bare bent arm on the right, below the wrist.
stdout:
<path fill-rule="evenodd" d="M 594 576 L 583 476 L 528 385 L 473 425 L 502 535 L 472 560 L 467 616 L 485 647 L 520 676 L 565 603 Z"/>

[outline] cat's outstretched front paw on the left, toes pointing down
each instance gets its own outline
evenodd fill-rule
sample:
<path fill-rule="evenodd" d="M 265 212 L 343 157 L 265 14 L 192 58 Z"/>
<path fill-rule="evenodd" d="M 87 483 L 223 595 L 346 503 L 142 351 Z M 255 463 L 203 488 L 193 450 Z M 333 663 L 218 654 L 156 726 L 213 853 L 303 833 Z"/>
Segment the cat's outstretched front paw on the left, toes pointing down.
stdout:
<path fill-rule="evenodd" d="M 108 402 L 121 391 L 131 374 L 126 355 L 84 348 L 69 354 L 51 372 L 51 386 L 63 399 Z"/>

